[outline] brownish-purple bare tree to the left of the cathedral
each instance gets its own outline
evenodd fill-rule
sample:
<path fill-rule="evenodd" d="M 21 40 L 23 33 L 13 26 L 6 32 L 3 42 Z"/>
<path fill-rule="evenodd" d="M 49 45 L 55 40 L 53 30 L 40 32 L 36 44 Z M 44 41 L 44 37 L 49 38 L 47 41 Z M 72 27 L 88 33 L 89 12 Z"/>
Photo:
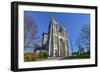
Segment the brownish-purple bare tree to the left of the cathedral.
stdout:
<path fill-rule="evenodd" d="M 38 26 L 30 16 L 24 17 L 24 48 L 33 48 L 37 39 Z"/>

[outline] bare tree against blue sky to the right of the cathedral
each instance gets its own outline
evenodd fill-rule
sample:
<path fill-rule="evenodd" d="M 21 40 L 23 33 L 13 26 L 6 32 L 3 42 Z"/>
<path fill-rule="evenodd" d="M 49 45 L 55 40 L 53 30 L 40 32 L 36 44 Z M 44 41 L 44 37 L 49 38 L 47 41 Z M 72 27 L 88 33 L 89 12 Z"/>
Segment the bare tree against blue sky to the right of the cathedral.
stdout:
<path fill-rule="evenodd" d="M 90 50 L 90 25 L 84 25 L 82 27 L 80 35 L 77 39 L 77 46 L 80 53 L 85 50 Z"/>

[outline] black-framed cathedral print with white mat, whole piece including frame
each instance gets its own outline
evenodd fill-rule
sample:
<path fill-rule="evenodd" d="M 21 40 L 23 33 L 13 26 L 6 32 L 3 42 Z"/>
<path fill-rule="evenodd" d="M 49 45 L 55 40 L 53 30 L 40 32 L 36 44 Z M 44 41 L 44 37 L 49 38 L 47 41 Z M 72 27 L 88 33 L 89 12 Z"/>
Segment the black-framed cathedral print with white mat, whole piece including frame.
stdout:
<path fill-rule="evenodd" d="M 97 66 L 97 7 L 11 3 L 11 70 Z"/>

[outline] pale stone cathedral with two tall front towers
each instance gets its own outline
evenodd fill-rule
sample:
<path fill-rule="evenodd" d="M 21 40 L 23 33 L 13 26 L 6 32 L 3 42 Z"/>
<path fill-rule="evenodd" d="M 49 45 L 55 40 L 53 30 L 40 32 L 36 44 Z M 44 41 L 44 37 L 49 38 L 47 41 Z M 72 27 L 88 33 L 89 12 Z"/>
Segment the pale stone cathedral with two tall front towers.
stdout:
<path fill-rule="evenodd" d="M 42 45 L 46 46 L 49 57 L 69 55 L 66 29 L 64 26 L 59 26 L 53 17 L 49 22 L 48 33 L 42 35 Z"/>

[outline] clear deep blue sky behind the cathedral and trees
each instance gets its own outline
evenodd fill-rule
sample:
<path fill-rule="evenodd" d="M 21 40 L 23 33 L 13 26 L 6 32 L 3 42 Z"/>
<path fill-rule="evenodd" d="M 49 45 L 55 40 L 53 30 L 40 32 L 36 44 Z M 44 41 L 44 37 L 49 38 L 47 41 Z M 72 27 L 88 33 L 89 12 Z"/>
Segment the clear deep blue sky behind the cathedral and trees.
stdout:
<path fill-rule="evenodd" d="M 82 26 L 90 24 L 90 14 L 83 13 L 58 13 L 24 11 L 24 16 L 30 16 L 38 25 L 38 36 L 42 40 L 42 33 L 48 32 L 48 25 L 52 17 L 59 25 L 66 27 L 70 50 L 77 51 L 76 39 Z"/>

